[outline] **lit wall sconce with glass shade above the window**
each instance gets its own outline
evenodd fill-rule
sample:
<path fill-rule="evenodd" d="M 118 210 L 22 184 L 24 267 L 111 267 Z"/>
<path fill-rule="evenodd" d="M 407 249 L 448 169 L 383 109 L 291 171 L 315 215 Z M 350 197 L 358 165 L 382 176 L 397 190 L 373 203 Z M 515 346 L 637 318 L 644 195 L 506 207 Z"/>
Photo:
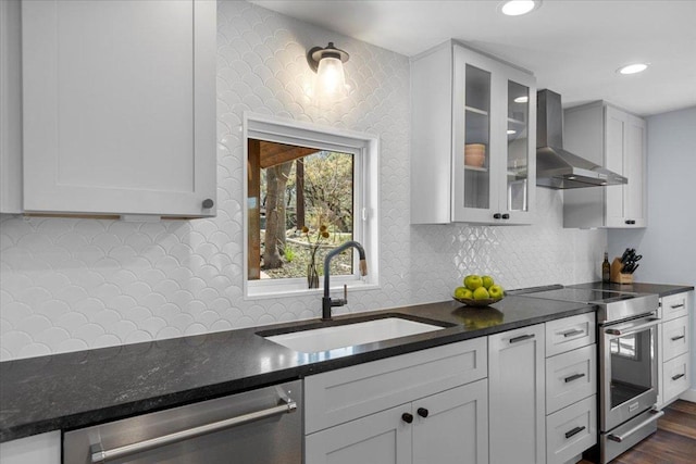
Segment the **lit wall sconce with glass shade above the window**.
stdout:
<path fill-rule="evenodd" d="M 314 97 L 319 101 L 336 101 L 348 95 L 344 63 L 348 53 L 328 42 L 325 48 L 313 47 L 307 52 L 307 62 L 316 73 Z"/>

